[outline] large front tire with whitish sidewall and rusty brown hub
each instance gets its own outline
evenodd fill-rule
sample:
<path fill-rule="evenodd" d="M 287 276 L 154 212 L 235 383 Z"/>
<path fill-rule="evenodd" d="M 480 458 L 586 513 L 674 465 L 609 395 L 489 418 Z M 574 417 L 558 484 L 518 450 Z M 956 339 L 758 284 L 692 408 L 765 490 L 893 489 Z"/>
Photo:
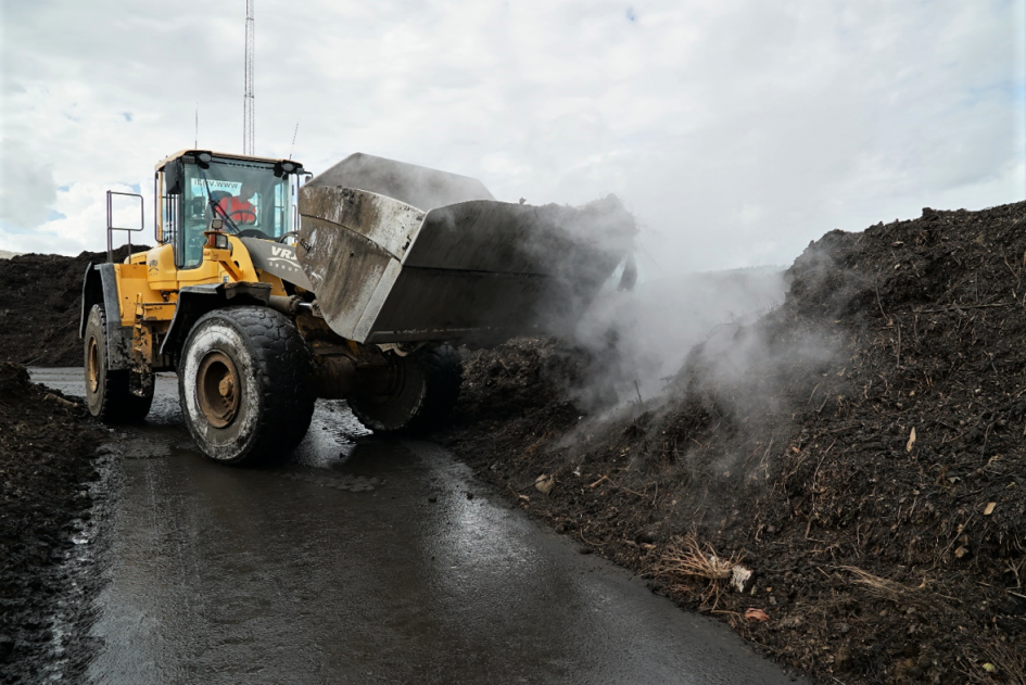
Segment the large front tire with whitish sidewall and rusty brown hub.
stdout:
<path fill-rule="evenodd" d="M 215 461 L 283 460 L 314 414 L 309 371 L 306 343 L 283 314 L 261 306 L 205 314 L 178 365 L 189 433 Z"/>

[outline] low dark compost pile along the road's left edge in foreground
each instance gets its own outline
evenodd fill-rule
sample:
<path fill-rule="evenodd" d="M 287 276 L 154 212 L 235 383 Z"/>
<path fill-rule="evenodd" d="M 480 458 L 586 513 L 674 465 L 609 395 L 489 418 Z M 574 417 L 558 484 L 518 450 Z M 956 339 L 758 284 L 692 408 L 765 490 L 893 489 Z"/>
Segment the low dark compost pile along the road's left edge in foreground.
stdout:
<path fill-rule="evenodd" d="M 61 562 L 88 519 L 103 433 L 79 399 L 0 363 L 0 681 L 41 677 L 61 645 L 54 605 L 68 592 Z M 4 675 L 5 674 L 5 675 Z"/>

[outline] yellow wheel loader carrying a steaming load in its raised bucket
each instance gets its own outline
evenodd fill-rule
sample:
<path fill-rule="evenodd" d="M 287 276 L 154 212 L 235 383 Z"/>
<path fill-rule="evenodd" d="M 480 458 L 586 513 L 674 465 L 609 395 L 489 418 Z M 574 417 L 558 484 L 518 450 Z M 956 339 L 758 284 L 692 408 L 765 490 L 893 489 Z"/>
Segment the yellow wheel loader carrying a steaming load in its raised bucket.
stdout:
<path fill-rule="evenodd" d="M 317 177 L 290 160 L 185 150 L 156 165 L 157 246 L 90 264 L 89 409 L 138 421 L 153 375 L 178 375 L 182 419 L 228 464 L 277 459 L 317 397 L 376 432 L 445 419 L 455 345 L 570 330 L 634 239 L 613 196 L 497 202 L 472 178 L 367 154 Z M 130 245 L 130 233 L 129 233 Z M 129 250 L 130 252 L 130 250 Z"/>

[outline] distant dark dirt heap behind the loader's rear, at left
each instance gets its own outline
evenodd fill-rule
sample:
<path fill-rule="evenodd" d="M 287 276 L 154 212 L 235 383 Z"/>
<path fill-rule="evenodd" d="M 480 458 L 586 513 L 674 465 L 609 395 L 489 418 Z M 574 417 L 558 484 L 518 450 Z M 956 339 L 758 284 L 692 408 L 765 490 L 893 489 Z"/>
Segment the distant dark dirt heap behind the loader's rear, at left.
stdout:
<path fill-rule="evenodd" d="M 132 245 L 132 252 L 148 250 Z M 128 246 L 114 251 L 122 262 Z M 77 257 L 24 254 L 0 262 L 0 360 L 26 366 L 81 366 L 78 321 L 81 286 L 89 263 L 105 252 Z"/>

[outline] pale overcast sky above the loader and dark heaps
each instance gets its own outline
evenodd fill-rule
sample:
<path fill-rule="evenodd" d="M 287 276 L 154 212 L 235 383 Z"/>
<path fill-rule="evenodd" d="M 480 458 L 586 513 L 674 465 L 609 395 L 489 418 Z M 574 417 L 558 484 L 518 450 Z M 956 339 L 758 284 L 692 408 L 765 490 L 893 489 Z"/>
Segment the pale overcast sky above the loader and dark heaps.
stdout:
<path fill-rule="evenodd" d="M 0 0 L 0 249 L 104 246 L 104 190 L 242 149 L 244 0 Z M 259 0 L 256 153 L 501 200 L 616 193 L 659 276 L 1026 199 L 1026 0 Z"/>

